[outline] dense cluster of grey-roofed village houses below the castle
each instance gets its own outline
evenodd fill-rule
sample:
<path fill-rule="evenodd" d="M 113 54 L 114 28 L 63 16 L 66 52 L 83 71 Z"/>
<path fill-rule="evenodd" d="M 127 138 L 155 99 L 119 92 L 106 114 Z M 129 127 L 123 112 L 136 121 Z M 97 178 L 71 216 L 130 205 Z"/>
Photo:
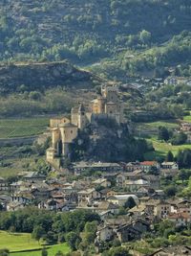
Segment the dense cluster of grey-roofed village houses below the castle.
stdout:
<path fill-rule="evenodd" d="M 101 175 L 82 175 L 90 169 Z M 55 212 L 92 211 L 101 219 L 96 233 L 97 248 L 115 238 L 121 243 L 141 239 L 160 220 L 174 221 L 177 226 L 191 223 L 191 201 L 166 198 L 159 186 L 161 175 L 178 174 L 176 162 L 80 162 L 74 163 L 70 172 L 76 177 L 71 182 L 67 175 L 47 178 L 35 172 L 22 174 L 11 184 L 0 178 L 0 210 L 16 211 L 35 205 Z M 121 214 L 124 209 L 125 215 Z"/>

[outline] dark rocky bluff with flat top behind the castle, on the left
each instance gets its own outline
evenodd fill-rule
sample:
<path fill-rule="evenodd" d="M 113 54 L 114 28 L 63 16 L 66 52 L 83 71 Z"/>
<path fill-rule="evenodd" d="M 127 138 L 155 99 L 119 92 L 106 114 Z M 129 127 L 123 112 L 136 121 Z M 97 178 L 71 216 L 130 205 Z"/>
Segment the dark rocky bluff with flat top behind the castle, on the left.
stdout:
<path fill-rule="evenodd" d="M 0 66 L 0 92 L 44 90 L 57 85 L 93 86 L 93 74 L 75 68 L 66 61 L 50 63 L 11 64 Z"/>

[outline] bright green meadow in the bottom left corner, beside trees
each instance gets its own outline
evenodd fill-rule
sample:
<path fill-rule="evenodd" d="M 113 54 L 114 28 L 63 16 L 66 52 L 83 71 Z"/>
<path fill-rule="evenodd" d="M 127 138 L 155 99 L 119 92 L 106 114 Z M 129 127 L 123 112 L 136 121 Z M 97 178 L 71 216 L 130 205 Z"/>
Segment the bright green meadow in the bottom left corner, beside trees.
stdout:
<path fill-rule="evenodd" d="M 41 249 L 43 246 L 38 244 L 37 241 L 32 239 L 31 234 L 28 233 L 8 233 L 0 231 L 0 249 L 8 248 L 11 251 L 12 256 L 41 256 Z M 26 249 L 40 249 L 37 251 L 20 252 Z M 64 253 L 70 251 L 67 244 L 55 244 L 49 249 L 49 256 L 54 256 L 55 253 L 61 250 Z"/>

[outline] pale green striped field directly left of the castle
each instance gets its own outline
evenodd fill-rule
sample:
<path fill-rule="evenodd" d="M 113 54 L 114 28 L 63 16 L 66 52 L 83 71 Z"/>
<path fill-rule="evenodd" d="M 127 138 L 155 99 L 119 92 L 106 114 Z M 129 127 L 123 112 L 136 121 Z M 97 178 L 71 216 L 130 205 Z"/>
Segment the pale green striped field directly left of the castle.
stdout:
<path fill-rule="evenodd" d="M 42 133 L 48 125 L 48 117 L 0 119 L 0 138 L 37 135 Z"/>

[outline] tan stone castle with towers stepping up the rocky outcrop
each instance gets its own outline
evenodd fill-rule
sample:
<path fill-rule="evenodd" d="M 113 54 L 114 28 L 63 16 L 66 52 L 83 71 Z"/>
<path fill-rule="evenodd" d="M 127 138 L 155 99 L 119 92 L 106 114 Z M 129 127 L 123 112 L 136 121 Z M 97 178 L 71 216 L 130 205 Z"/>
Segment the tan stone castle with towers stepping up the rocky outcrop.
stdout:
<path fill-rule="evenodd" d="M 70 158 L 71 146 L 78 131 L 96 119 L 113 119 L 117 124 L 123 123 L 123 105 L 118 97 L 117 86 L 104 86 L 101 95 L 87 107 L 83 104 L 73 107 L 71 118 L 50 120 L 52 147 L 47 150 L 47 161 L 60 166 L 60 160 Z"/>

